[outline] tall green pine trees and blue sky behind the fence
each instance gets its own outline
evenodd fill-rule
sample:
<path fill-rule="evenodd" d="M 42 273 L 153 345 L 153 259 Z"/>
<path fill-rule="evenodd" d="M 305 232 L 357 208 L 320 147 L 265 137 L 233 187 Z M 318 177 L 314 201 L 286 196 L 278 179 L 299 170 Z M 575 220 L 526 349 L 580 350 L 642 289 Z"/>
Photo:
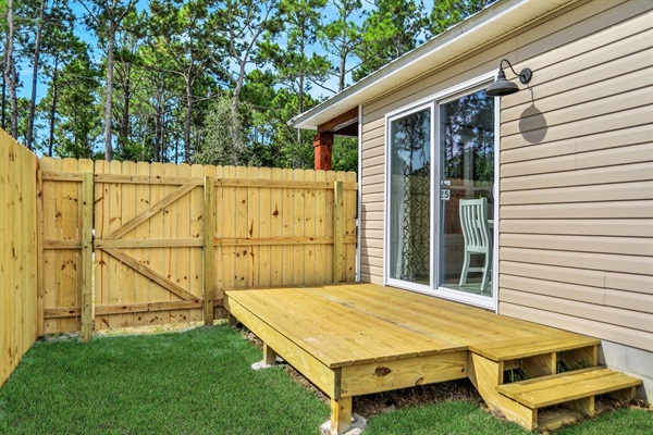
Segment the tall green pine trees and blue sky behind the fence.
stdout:
<path fill-rule="evenodd" d="M 48 156 L 312 167 L 292 117 L 489 3 L 0 0 L 2 127 Z"/>

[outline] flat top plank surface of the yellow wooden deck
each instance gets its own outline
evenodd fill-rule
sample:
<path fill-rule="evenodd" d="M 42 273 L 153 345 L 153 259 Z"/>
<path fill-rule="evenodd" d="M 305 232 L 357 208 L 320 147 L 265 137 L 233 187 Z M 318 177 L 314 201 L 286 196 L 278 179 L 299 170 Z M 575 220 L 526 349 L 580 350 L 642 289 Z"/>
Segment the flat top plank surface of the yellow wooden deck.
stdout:
<path fill-rule="evenodd" d="M 373 284 L 226 291 L 328 368 L 455 352 L 558 330 Z"/>

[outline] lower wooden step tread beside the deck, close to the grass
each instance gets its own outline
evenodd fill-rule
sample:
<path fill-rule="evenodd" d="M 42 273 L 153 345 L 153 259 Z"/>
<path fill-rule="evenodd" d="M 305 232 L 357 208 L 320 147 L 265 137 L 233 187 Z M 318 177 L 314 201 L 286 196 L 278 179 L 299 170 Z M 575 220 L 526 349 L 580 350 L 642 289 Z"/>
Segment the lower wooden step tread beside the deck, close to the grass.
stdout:
<path fill-rule="evenodd" d="M 640 385 L 641 380 L 605 368 L 558 373 L 498 385 L 502 395 L 530 408 L 540 409 Z"/>

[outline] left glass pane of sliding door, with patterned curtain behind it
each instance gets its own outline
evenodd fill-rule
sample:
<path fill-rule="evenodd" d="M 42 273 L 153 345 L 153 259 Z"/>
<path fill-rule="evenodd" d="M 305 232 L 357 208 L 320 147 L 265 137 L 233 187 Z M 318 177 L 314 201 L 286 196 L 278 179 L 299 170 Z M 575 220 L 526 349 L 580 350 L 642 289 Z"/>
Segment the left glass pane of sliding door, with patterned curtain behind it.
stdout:
<path fill-rule="evenodd" d="M 390 123 L 389 277 L 431 283 L 431 109 Z"/>

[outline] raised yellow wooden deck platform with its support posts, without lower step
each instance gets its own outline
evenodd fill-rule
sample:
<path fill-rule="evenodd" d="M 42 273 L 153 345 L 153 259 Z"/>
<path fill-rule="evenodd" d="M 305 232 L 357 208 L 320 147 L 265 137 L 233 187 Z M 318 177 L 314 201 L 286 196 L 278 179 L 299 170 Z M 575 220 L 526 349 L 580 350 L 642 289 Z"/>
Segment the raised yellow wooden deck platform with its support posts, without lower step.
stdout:
<path fill-rule="evenodd" d="M 334 433 L 348 427 L 354 396 L 465 377 L 482 394 L 482 368 L 498 370 L 493 395 L 516 358 L 538 356 L 537 375 L 555 374 L 568 349 L 597 362 L 594 338 L 372 284 L 231 290 L 224 306 L 264 343 L 264 360 L 280 355 L 332 398 Z"/>

